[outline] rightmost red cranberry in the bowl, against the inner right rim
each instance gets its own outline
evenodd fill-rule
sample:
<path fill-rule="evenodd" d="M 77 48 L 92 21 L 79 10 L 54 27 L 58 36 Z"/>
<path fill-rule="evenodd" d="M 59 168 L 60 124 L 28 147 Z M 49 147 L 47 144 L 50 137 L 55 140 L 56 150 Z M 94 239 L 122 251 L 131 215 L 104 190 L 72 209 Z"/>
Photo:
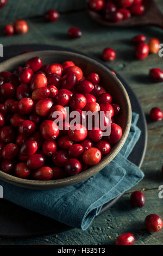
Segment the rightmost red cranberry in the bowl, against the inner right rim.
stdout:
<path fill-rule="evenodd" d="M 121 137 L 122 137 L 122 128 L 117 124 L 111 123 L 111 133 L 110 133 L 110 136 L 108 136 L 109 143 L 115 144 L 118 141 L 120 141 Z"/>

